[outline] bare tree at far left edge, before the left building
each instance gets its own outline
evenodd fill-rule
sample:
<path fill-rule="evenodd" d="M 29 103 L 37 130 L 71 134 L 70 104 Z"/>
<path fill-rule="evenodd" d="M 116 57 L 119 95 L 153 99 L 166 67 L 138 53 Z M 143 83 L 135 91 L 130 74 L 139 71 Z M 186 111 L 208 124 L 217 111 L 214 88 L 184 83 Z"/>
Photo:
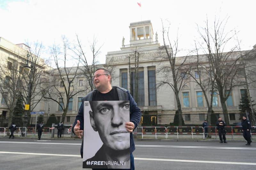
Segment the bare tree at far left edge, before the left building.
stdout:
<path fill-rule="evenodd" d="M 2 61 L 5 61 L 5 58 L 5 56 L 2 56 Z M 2 104 L 5 104 L 10 111 L 8 126 L 11 124 L 14 108 L 18 100 L 18 94 L 22 89 L 22 74 L 20 69 L 18 69 L 21 58 L 20 54 L 9 55 L 7 62 L 1 62 L 0 64 L 0 93 L 4 99 L 4 101 L 2 100 Z"/>

